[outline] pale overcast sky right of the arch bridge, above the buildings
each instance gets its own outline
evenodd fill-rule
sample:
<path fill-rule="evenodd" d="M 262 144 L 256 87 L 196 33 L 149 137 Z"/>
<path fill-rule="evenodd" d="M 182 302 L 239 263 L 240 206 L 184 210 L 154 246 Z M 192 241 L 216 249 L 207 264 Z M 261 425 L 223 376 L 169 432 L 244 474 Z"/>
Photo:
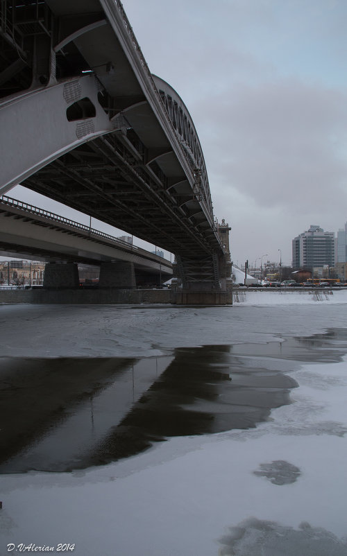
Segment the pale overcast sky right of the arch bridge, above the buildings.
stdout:
<path fill-rule="evenodd" d="M 344 227 L 346 0 L 123 4 L 149 69 L 192 114 L 232 260 L 291 263 L 311 224 Z"/>

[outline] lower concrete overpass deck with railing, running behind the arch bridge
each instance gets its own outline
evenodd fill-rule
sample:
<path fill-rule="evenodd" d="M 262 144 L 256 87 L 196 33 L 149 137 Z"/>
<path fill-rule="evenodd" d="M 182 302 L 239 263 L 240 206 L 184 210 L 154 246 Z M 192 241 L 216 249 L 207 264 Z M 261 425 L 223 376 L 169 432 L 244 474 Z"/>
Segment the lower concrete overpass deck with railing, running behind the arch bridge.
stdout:
<path fill-rule="evenodd" d="M 170 261 L 50 211 L 0 198 L 0 254 L 52 262 L 133 263 L 137 286 L 172 277 Z"/>

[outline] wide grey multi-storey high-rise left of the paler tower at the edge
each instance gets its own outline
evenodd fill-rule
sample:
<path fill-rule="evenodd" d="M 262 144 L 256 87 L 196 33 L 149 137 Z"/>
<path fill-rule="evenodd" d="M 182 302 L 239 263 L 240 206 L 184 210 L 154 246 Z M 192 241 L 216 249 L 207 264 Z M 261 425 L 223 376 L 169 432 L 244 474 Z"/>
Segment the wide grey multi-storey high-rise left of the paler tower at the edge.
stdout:
<path fill-rule="evenodd" d="M 324 232 L 323 228 L 311 225 L 307 232 L 296 236 L 292 242 L 293 268 L 335 265 L 335 233 Z"/>

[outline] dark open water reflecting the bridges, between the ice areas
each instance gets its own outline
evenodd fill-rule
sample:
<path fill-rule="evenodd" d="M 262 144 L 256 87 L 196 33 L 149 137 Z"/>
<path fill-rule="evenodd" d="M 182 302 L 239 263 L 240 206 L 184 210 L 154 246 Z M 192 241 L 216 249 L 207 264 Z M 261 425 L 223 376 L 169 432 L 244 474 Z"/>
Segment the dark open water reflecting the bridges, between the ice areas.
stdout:
<path fill-rule="evenodd" d="M 254 427 L 290 403 L 298 362 L 346 352 L 334 329 L 143 359 L 0 358 L 0 472 L 83 469 L 171 436 Z"/>

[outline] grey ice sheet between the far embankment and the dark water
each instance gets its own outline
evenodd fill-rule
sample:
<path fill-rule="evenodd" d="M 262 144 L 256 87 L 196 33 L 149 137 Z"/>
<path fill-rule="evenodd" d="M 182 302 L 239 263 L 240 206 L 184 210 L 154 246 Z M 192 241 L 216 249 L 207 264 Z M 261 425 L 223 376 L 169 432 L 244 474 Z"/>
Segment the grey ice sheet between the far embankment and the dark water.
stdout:
<path fill-rule="evenodd" d="M 174 347 L 310 336 L 346 324 L 339 306 L 347 304 L 347 290 L 326 294 L 323 301 L 266 290 L 246 296 L 246 303 L 222 307 L 2 305 L 0 354 L 146 357 Z"/>

